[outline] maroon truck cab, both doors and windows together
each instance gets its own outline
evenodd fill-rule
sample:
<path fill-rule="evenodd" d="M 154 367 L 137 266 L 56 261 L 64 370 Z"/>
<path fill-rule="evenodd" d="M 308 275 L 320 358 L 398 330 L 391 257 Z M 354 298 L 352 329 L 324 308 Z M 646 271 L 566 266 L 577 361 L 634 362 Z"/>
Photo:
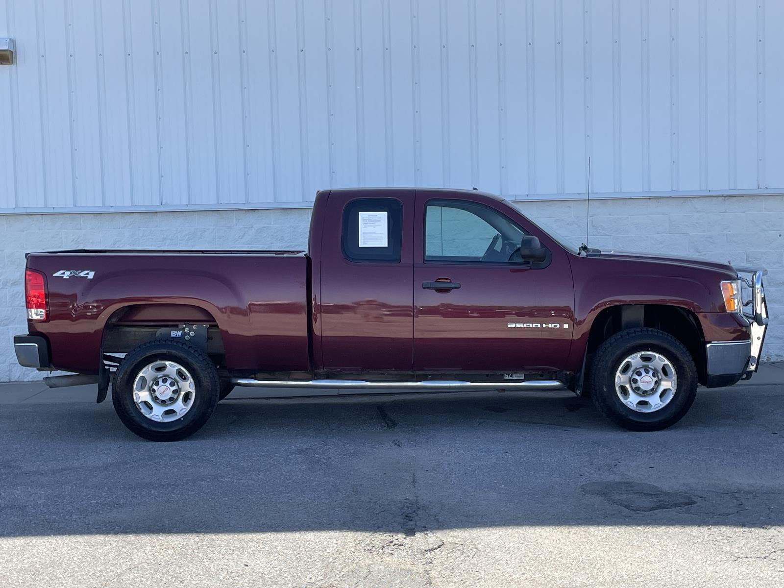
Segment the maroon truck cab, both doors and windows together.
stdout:
<path fill-rule="evenodd" d="M 310 255 L 323 370 L 503 379 L 568 365 L 574 285 L 569 254 L 556 241 L 490 194 L 368 196 L 318 195 L 325 217 L 314 218 Z M 363 241 L 368 218 L 389 227 L 382 243 Z"/>

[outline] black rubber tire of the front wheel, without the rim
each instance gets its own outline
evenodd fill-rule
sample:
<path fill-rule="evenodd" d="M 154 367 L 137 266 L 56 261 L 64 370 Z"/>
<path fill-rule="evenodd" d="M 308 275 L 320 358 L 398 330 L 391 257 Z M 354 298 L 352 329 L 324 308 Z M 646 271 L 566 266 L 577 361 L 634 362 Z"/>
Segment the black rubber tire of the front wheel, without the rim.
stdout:
<path fill-rule="evenodd" d="M 637 351 L 659 352 L 675 369 L 677 387 L 672 399 L 655 412 L 629 408 L 615 391 L 615 372 L 622 361 Z M 604 341 L 593 354 L 589 386 L 593 404 L 613 423 L 628 430 L 662 430 L 681 420 L 694 403 L 697 368 L 691 354 L 675 337 L 655 328 L 630 328 Z"/>

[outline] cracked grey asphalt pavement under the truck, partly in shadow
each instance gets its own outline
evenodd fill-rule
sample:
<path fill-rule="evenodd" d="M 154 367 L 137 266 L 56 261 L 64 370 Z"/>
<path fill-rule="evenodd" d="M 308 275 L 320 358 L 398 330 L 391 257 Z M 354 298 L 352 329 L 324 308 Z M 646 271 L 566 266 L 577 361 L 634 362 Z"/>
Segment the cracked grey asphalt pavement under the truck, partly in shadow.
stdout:
<path fill-rule="evenodd" d="M 781 384 L 648 434 L 560 392 L 238 388 L 170 444 L 42 390 L 0 385 L 4 588 L 784 583 Z"/>

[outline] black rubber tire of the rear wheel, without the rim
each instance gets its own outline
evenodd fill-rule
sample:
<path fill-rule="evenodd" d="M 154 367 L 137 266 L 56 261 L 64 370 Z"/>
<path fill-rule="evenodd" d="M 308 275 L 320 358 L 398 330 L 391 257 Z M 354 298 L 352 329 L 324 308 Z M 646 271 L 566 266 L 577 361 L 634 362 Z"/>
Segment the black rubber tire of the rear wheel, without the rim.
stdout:
<path fill-rule="evenodd" d="M 136 407 L 133 383 L 139 372 L 157 360 L 175 361 L 194 381 L 191 408 L 179 419 L 156 422 Z M 220 379 L 215 364 L 201 350 L 179 341 L 154 340 L 132 350 L 118 368 L 111 400 L 122 423 L 134 434 L 150 441 L 180 441 L 201 429 L 218 403 Z"/>

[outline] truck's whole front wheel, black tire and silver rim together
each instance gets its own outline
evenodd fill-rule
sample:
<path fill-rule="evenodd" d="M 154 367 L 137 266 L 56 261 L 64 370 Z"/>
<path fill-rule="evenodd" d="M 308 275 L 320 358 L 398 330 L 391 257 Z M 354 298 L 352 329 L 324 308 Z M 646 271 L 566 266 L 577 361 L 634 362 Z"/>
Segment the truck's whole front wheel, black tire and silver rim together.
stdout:
<path fill-rule="evenodd" d="M 677 423 L 697 394 L 697 368 L 683 343 L 655 328 L 630 328 L 602 343 L 590 367 L 597 408 L 629 430 Z"/>

